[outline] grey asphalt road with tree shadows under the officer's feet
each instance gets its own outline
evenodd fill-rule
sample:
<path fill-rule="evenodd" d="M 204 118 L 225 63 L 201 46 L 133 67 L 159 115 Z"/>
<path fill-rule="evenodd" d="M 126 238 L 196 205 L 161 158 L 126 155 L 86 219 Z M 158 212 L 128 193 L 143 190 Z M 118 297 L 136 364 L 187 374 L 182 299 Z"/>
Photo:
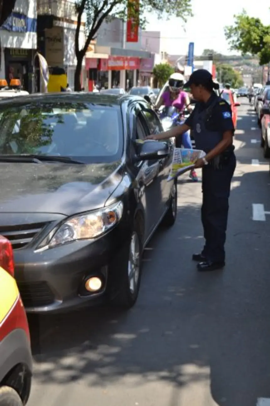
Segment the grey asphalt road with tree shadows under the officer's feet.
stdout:
<path fill-rule="evenodd" d="M 270 210 L 269 163 L 240 102 L 224 270 L 196 272 L 201 183 L 181 179 L 177 223 L 150 242 L 129 313 L 43 316 L 39 337 L 31 322 L 28 406 L 269 406 L 270 214 L 255 221 L 252 206 Z"/>

